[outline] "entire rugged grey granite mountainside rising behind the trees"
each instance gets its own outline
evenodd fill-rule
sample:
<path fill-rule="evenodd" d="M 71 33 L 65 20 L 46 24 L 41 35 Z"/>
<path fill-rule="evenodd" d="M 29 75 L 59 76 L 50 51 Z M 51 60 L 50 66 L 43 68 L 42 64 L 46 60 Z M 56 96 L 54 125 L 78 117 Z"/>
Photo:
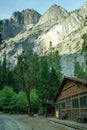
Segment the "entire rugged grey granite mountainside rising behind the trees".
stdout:
<path fill-rule="evenodd" d="M 9 20 L 3 20 L 4 43 L 1 46 L 0 59 L 3 60 L 6 52 L 8 61 L 15 65 L 16 55 L 26 53 L 29 48 L 39 55 L 46 54 L 51 42 L 54 50 L 62 55 L 63 73 L 73 75 L 74 60 L 77 59 L 80 63 L 84 60 L 80 50 L 82 35 L 87 32 L 87 26 L 84 26 L 86 9 L 87 2 L 72 13 L 57 5 L 50 7 L 42 16 L 31 9 L 14 12 Z M 70 60 L 72 62 L 67 68 Z"/>

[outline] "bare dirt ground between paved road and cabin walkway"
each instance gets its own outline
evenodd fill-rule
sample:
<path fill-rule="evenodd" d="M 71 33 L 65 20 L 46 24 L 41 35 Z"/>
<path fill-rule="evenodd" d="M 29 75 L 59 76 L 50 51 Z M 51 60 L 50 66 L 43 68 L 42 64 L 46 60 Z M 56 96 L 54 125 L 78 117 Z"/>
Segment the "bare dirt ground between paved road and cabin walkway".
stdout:
<path fill-rule="evenodd" d="M 10 115 L 20 123 L 24 124 L 29 130 L 67 130 L 61 126 L 53 125 L 47 118 L 41 116 L 29 117 L 28 115 Z"/>

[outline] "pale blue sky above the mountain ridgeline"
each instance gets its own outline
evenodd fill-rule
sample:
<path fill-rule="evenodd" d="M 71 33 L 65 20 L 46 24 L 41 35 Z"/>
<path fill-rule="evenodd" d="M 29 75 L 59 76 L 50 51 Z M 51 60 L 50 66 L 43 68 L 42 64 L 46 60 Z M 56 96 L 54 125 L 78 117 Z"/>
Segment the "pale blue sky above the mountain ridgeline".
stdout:
<path fill-rule="evenodd" d="M 34 9 L 44 14 L 53 4 L 62 6 L 67 11 L 81 8 L 87 0 L 0 0 L 0 19 L 8 19 L 14 11 Z"/>

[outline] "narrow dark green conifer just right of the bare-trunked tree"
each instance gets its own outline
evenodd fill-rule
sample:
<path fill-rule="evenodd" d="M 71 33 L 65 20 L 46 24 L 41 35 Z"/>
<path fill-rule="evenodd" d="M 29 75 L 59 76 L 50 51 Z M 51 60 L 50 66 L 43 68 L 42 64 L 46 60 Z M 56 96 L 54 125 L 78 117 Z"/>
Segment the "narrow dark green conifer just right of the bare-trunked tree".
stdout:
<path fill-rule="evenodd" d="M 48 89 L 49 89 L 48 76 L 49 76 L 49 67 L 48 67 L 47 59 L 46 57 L 41 57 L 38 76 L 37 76 L 36 89 L 38 90 L 38 94 L 42 103 L 48 97 Z"/>

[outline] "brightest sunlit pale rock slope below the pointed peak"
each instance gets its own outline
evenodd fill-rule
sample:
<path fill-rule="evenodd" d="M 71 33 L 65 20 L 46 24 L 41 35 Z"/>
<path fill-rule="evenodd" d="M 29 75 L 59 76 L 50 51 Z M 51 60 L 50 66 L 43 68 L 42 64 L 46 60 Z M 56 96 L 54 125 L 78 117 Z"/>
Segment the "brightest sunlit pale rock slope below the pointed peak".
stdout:
<path fill-rule="evenodd" d="M 54 25 L 48 31 L 39 36 L 37 39 L 37 46 L 35 48 L 36 51 L 41 50 L 39 49 L 41 46 L 45 48 L 44 51 L 47 51 L 49 49 L 50 42 L 52 43 L 53 47 L 61 44 L 69 34 L 84 26 L 83 21 L 84 20 L 81 16 L 75 13 L 71 14 L 65 20 Z"/>

